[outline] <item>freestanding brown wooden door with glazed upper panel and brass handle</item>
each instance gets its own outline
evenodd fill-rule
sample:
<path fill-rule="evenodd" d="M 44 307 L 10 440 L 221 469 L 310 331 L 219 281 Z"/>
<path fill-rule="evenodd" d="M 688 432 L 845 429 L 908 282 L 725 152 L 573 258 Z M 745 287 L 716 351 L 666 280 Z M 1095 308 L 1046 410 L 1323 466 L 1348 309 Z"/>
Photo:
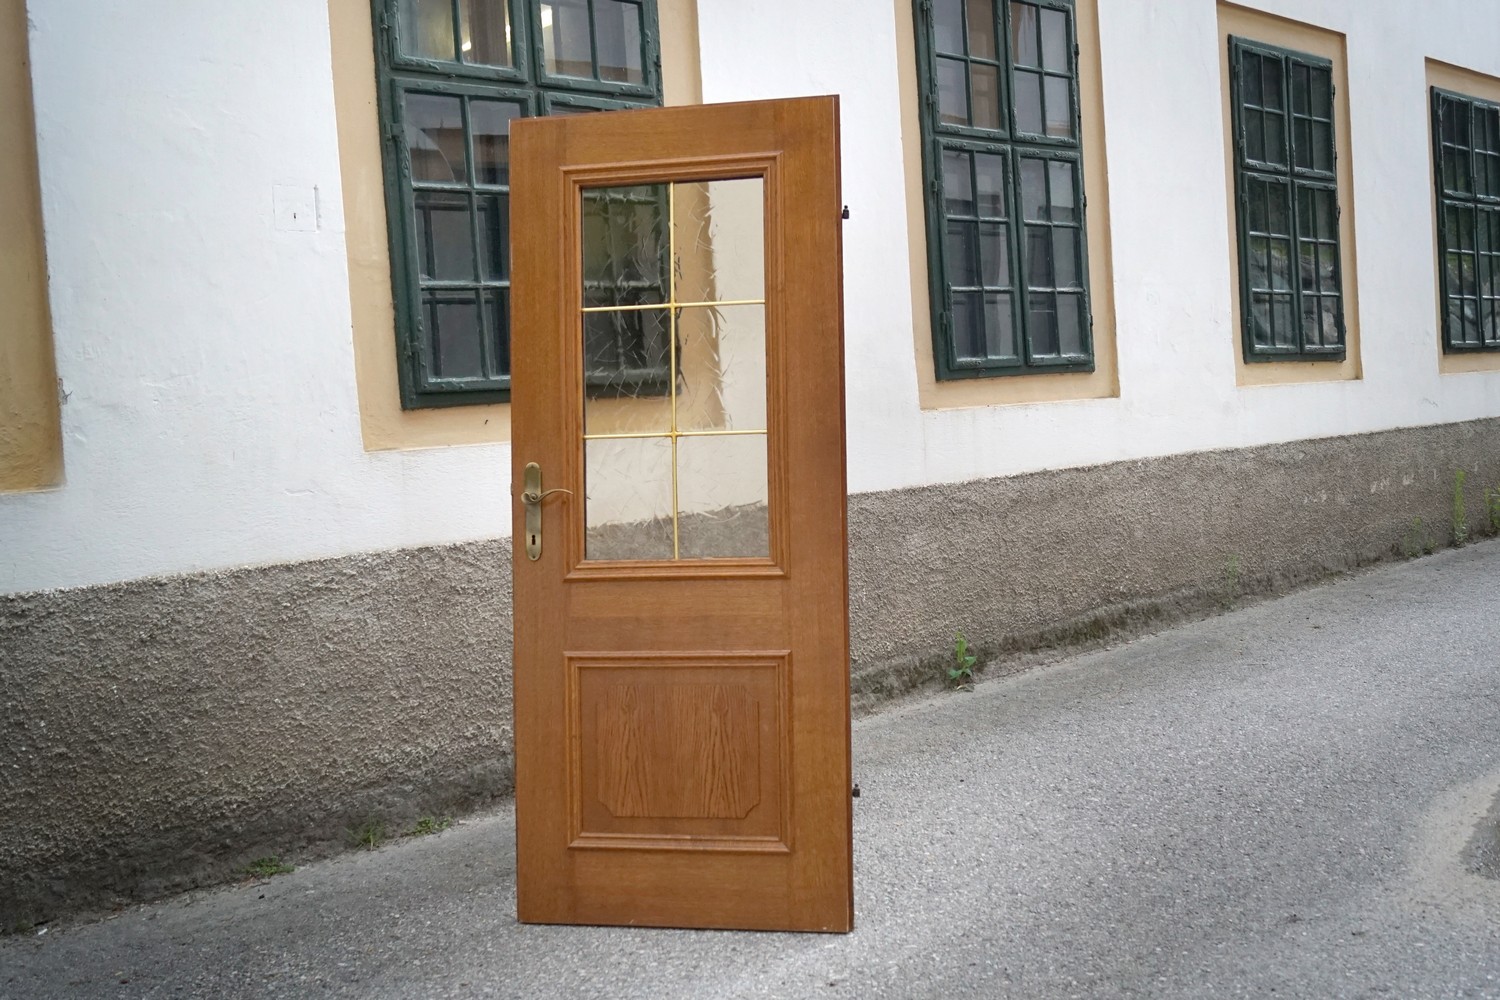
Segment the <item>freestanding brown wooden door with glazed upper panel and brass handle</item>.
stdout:
<path fill-rule="evenodd" d="M 514 123 L 522 921 L 852 927 L 837 136 Z"/>

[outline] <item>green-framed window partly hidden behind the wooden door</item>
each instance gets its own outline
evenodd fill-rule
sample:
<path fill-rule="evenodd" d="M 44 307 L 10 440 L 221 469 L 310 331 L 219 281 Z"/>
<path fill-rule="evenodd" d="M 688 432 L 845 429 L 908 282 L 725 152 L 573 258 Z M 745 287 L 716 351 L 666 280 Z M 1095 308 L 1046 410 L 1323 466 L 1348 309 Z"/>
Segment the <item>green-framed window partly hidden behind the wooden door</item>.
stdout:
<path fill-rule="evenodd" d="M 402 406 L 510 394 L 514 118 L 662 103 L 651 0 L 374 0 Z"/>

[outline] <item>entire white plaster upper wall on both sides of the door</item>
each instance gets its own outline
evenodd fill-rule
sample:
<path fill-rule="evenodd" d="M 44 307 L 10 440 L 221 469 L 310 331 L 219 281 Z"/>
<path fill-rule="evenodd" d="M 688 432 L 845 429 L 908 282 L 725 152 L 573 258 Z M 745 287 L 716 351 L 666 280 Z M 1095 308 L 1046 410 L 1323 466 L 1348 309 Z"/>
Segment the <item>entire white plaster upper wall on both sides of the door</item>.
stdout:
<path fill-rule="evenodd" d="M 1120 399 L 921 411 L 909 4 L 699 0 L 705 100 L 842 94 L 852 490 L 1500 415 L 1437 372 L 1424 67 L 1500 75 L 1500 0 L 1252 6 L 1348 36 L 1364 379 L 1234 385 L 1214 0 L 1100 0 Z M 68 484 L 0 496 L 0 592 L 507 534 L 508 448 L 362 448 L 324 4 L 30 9 Z"/>

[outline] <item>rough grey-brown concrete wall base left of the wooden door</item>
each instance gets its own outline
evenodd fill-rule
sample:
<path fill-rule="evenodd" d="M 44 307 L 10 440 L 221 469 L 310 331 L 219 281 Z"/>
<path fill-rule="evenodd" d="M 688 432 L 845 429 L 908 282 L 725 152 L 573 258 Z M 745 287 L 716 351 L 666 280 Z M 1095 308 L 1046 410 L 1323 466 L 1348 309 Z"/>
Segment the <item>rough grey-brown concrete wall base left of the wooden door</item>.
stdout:
<path fill-rule="evenodd" d="M 512 789 L 510 544 L 0 598 L 0 930 Z"/>

